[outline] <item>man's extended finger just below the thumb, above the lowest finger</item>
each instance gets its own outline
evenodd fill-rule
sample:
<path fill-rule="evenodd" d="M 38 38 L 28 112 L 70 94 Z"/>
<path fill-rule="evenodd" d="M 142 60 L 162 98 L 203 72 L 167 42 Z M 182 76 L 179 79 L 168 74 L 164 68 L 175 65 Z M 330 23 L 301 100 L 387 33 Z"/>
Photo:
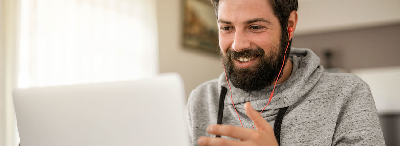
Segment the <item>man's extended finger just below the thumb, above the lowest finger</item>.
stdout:
<path fill-rule="evenodd" d="M 248 140 L 252 138 L 252 134 L 256 131 L 232 125 L 210 125 L 207 127 L 207 132 L 214 135 L 224 135 L 240 140 Z"/>

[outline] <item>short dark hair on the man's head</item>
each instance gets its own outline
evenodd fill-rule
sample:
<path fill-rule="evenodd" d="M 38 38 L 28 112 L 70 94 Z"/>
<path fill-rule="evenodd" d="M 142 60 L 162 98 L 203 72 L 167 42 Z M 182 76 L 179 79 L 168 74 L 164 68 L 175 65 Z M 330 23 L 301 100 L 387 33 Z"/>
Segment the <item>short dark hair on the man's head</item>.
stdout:
<path fill-rule="evenodd" d="M 212 6 L 214 6 L 215 14 L 218 18 L 218 2 L 219 2 L 219 0 L 210 0 L 210 1 L 211 1 Z M 287 38 L 288 37 L 288 35 L 287 35 L 288 19 L 289 19 L 290 13 L 292 11 L 297 11 L 298 1 L 297 0 L 268 0 L 268 1 L 270 2 L 272 9 L 274 10 L 275 16 L 278 17 L 278 20 L 279 20 L 279 23 L 281 26 L 282 36 L 286 36 L 285 40 L 287 41 L 287 39 L 288 39 Z M 282 38 L 282 39 L 284 39 L 284 38 Z M 290 40 L 288 52 L 290 52 L 291 44 L 292 44 L 292 40 Z"/>

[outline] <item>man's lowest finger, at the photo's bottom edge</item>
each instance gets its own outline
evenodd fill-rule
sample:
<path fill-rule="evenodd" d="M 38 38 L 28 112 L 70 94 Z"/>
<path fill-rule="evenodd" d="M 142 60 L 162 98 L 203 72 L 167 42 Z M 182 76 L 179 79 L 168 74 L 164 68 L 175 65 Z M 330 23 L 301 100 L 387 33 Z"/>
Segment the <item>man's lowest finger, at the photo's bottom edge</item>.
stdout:
<path fill-rule="evenodd" d="M 240 146 L 239 141 L 228 140 L 224 138 L 210 138 L 210 137 L 200 137 L 197 140 L 200 146 Z"/>

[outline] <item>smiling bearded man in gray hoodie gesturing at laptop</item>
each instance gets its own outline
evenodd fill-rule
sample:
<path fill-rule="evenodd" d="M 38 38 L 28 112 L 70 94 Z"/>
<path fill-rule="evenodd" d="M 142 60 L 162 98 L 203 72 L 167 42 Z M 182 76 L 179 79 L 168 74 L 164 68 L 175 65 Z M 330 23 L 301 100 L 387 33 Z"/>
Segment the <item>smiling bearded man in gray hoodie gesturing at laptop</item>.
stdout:
<path fill-rule="evenodd" d="M 297 0 L 212 3 L 226 74 L 190 93 L 192 145 L 384 145 L 368 85 L 290 49 Z"/>

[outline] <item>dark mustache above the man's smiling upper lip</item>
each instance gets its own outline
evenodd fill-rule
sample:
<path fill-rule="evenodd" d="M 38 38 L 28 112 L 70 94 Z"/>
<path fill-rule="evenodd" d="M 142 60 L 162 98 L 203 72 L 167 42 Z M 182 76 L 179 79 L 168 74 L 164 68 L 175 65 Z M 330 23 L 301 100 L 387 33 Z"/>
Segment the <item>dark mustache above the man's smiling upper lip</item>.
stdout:
<path fill-rule="evenodd" d="M 261 48 L 255 48 L 255 49 L 247 49 L 243 50 L 240 52 L 236 52 L 235 50 L 227 50 L 226 51 L 226 57 L 230 60 L 236 60 L 237 58 L 243 57 L 243 58 L 250 58 L 252 56 L 256 57 L 263 57 L 265 54 L 264 50 Z"/>

